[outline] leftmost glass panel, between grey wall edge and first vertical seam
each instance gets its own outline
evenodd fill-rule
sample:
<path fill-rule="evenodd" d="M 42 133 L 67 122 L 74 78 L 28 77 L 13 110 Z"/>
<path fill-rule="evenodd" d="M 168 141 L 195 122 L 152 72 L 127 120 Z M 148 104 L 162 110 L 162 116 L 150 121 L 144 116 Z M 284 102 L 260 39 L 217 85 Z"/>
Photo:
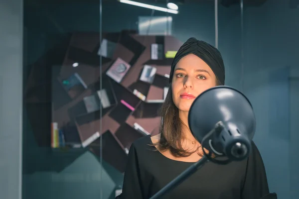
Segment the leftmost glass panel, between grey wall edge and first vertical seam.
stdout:
<path fill-rule="evenodd" d="M 117 103 L 101 78 L 101 6 L 24 0 L 23 199 L 115 195 L 100 154 L 99 120 Z"/>

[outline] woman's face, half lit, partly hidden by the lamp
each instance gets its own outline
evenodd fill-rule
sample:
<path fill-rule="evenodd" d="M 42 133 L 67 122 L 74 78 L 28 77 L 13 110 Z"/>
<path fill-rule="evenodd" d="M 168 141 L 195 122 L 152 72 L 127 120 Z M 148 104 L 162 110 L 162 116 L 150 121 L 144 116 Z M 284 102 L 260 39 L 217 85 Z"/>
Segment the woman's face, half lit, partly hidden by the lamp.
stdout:
<path fill-rule="evenodd" d="M 197 96 L 216 86 L 216 76 L 202 59 L 189 54 L 176 64 L 171 84 L 175 106 L 188 112 Z"/>

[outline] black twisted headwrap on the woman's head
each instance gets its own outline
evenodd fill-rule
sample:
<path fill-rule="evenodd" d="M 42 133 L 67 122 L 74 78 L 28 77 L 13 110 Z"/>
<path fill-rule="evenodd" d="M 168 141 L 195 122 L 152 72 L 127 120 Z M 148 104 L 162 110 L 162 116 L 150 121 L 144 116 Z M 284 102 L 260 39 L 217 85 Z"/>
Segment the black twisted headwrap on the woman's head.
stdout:
<path fill-rule="evenodd" d="M 215 76 L 224 85 L 225 81 L 225 70 L 222 56 L 217 48 L 214 46 L 195 39 L 194 37 L 189 38 L 177 51 L 171 64 L 171 70 L 169 75 L 169 82 L 172 81 L 175 65 L 177 62 L 188 54 L 194 54 L 202 59 L 214 72 Z"/>

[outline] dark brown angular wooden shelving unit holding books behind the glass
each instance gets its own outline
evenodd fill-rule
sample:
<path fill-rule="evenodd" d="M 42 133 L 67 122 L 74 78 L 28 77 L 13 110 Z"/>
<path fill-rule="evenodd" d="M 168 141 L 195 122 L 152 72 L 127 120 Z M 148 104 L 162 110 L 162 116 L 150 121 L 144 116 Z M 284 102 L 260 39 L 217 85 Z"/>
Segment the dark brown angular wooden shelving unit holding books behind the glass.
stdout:
<path fill-rule="evenodd" d="M 100 68 L 99 38 L 97 33 L 73 33 L 31 67 L 24 99 L 35 141 L 39 147 L 47 148 L 49 161 L 61 162 L 58 168 L 44 166 L 36 171 L 62 171 L 86 151 L 99 157 L 102 147 L 103 160 L 122 173 L 131 144 L 146 135 L 134 124 L 149 134 L 158 125 L 163 88 L 169 82 L 165 74 L 169 74 L 172 59 L 150 60 L 150 46 L 157 42 L 164 45 L 165 54 L 177 50 L 182 43 L 172 36 L 145 36 L 135 31 L 103 33 L 102 38 L 114 42 L 115 49 L 109 57 L 102 57 Z M 119 83 L 106 75 L 118 58 L 131 66 Z M 73 67 L 74 63 L 78 66 Z M 152 83 L 140 80 L 145 64 L 156 68 Z M 46 67 L 45 71 L 40 71 L 41 67 Z M 70 94 L 64 81 L 73 74 L 78 74 L 86 88 Z M 101 88 L 107 92 L 110 106 L 102 111 L 88 110 L 84 99 L 97 95 Z M 146 99 L 137 97 L 135 90 Z M 101 104 L 101 100 L 97 101 Z M 67 146 L 51 149 L 51 122 L 57 122 L 62 129 Z M 96 133 L 98 136 L 86 146 L 72 148 Z"/>

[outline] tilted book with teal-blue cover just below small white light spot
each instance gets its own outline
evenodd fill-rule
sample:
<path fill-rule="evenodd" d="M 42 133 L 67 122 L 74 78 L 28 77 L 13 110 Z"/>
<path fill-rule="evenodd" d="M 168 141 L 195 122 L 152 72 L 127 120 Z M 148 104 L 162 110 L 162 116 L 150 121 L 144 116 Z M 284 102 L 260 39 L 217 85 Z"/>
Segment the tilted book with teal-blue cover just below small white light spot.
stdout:
<path fill-rule="evenodd" d="M 71 98 L 75 98 L 87 89 L 87 85 L 78 73 L 74 73 L 70 77 L 61 81 L 63 88 Z"/>

